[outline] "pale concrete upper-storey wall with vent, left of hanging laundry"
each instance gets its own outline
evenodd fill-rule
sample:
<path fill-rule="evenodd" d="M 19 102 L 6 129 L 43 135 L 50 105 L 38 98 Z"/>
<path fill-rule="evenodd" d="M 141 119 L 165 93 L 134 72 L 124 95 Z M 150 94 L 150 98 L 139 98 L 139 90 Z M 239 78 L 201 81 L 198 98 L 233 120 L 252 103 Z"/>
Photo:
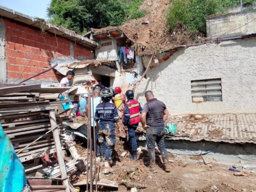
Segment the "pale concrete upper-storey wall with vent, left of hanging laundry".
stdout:
<path fill-rule="evenodd" d="M 115 49 L 114 39 L 104 38 L 100 42 L 100 47 L 95 48 L 95 56 L 97 60 L 117 61 L 117 53 Z"/>

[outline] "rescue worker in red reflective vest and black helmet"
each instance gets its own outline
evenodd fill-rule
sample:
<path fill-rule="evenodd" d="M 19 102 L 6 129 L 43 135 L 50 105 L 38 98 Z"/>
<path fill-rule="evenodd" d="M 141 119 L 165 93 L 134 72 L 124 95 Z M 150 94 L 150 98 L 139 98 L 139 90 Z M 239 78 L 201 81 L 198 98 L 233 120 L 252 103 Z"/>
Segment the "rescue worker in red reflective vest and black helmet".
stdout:
<path fill-rule="evenodd" d="M 131 145 L 131 154 L 129 155 L 129 158 L 132 160 L 137 159 L 137 141 L 135 137 L 135 130 L 137 129 L 139 123 L 140 123 L 140 113 L 142 111 L 142 107 L 140 103 L 133 99 L 134 93 L 132 90 L 127 90 L 125 93 L 127 100 L 124 103 L 124 118 L 123 118 L 123 124 L 124 124 L 124 130 L 128 131 L 129 136 L 129 142 Z"/>

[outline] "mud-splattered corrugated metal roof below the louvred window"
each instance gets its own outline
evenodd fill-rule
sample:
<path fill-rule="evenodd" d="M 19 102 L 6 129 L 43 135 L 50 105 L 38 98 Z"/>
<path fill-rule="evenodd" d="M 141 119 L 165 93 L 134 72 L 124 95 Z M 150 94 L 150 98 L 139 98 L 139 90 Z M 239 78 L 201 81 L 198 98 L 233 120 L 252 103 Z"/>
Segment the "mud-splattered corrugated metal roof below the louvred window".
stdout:
<path fill-rule="evenodd" d="M 166 139 L 214 141 L 228 143 L 256 143 L 256 114 L 214 114 L 172 116 L 178 133 L 167 134 Z"/>

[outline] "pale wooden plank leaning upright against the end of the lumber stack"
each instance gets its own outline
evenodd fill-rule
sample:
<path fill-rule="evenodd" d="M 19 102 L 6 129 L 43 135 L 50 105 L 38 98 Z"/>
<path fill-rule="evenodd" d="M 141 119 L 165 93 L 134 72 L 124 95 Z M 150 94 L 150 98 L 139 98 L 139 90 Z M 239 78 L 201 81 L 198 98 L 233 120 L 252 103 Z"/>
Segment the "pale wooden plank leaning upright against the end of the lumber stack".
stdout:
<path fill-rule="evenodd" d="M 50 118 L 50 122 L 51 122 L 52 127 L 57 126 L 54 110 L 50 111 L 49 118 Z M 54 139 L 55 146 L 56 146 L 58 163 L 59 163 L 59 166 L 60 166 L 61 178 L 64 179 L 64 178 L 67 178 L 67 172 L 66 172 L 66 166 L 65 166 L 65 163 L 64 163 L 63 154 L 62 154 L 62 149 L 61 149 L 61 143 L 60 143 L 60 137 L 59 137 L 58 129 L 55 129 L 53 131 L 53 139 Z M 69 192 L 70 191 L 70 189 L 69 189 L 69 182 L 68 182 L 67 179 L 63 180 L 63 185 L 66 186 L 66 192 Z"/>

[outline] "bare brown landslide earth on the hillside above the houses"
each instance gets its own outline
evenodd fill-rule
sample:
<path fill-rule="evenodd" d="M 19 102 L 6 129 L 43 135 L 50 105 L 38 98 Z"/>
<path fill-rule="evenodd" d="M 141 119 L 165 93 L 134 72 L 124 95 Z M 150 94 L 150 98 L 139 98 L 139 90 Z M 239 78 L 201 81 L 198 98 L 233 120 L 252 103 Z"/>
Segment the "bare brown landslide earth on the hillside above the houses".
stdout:
<path fill-rule="evenodd" d="M 133 41 L 134 48 L 146 50 L 148 53 L 162 52 L 180 45 L 193 43 L 193 35 L 183 25 L 178 31 L 170 33 L 166 25 L 166 13 L 170 0 L 144 0 L 140 9 L 146 10 L 145 17 L 132 19 L 119 27 L 95 29 L 95 32 L 118 28 Z"/>

